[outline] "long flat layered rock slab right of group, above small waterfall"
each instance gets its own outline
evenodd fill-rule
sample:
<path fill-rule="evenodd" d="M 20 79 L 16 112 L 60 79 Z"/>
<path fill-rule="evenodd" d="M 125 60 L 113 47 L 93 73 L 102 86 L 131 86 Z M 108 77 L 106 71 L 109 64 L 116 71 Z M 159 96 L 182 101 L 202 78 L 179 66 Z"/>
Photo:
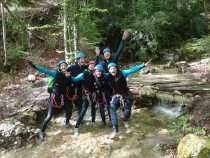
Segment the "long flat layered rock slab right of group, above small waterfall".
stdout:
<path fill-rule="evenodd" d="M 148 74 L 138 75 L 128 79 L 133 87 L 152 85 L 160 91 L 180 91 L 193 93 L 197 91 L 210 91 L 210 84 L 202 81 L 201 75 L 189 74 Z"/>

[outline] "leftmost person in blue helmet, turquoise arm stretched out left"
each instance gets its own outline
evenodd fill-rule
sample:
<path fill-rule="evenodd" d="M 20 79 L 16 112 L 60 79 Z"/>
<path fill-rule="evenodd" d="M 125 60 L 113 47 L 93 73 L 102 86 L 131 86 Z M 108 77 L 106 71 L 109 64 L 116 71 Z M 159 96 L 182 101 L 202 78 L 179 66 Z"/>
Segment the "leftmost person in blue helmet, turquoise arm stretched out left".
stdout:
<path fill-rule="evenodd" d="M 41 127 L 41 131 L 39 133 L 39 137 L 41 140 L 45 137 L 45 130 L 52 116 L 55 114 L 57 110 L 64 109 L 65 111 L 65 126 L 69 126 L 69 120 L 72 115 L 72 100 L 74 95 L 74 87 L 72 85 L 72 80 L 70 77 L 70 73 L 66 71 L 67 63 L 65 60 L 61 60 L 57 64 L 56 70 L 48 69 L 44 66 L 33 64 L 29 62 L 29 64 L 38 70 L 41 73 L 44 73 L 50 77 L 54 77 L 54 84 L 52 87 L 52 92 L 50 93 L 48 99 L 48 112 L 47 116 L 44 119 L 44 122 Z"/>

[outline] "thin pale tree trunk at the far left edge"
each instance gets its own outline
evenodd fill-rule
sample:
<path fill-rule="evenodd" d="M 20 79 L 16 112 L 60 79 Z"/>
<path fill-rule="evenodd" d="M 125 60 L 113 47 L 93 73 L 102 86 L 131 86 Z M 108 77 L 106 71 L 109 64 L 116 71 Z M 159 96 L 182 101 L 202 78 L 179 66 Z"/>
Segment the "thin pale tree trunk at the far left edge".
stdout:
<path fill-rule="evenodd" d="M 1 3 L 1 16 L 2 16 L 2 32 L 3 32 L 3 49 L 4 49 L 4 66 L 7 65 L 7 49 L 6 49 L 6 27 L 4 17 L 4 7 Z"/>

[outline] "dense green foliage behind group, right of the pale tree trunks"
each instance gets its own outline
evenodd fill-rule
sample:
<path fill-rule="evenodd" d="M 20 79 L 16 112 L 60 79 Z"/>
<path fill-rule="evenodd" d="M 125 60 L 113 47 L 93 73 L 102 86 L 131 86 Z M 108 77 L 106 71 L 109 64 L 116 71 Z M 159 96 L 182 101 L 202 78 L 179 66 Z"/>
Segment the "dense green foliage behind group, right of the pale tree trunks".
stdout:
<path fill-rule="evenodd" d="M 97 40 L 110 28 L 130 28 L 129 52 L 141 59 L 157 56 L 163 48 L 179 45 L 204 33 L 201 0 L 115 0 L 90 1 L 82 10 L 82 35 Z M 86 25 L 84 25 L 86 24 Z M 87 27 L 86 27 L 87 26 Z"/>

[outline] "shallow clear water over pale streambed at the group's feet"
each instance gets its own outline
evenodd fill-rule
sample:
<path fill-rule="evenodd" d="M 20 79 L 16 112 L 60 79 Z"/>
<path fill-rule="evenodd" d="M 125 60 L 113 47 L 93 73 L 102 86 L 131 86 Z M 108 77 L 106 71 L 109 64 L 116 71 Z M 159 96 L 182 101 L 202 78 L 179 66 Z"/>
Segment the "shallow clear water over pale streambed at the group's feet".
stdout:
<path fill-rule="evenodd" d="M 100 120 L 100 119 L 99 119 Z M 86 121 L 88 122 L 88 121 Z M 147 109 L 137 109 L 129 122 L 130 131 L 125 130 L 120 120 L 119 139 L 109 138 L 111 128 L 95 127 L 85 123 L 80 135 L 73 136 L 73 130 L 51 124 L 47 129 L 47 139 L 38 140 L 19 149 L 1 151 L 1 158 L 163 158 L 160 144 L 176 141 L 166 129 L 167 119 Z"/>

